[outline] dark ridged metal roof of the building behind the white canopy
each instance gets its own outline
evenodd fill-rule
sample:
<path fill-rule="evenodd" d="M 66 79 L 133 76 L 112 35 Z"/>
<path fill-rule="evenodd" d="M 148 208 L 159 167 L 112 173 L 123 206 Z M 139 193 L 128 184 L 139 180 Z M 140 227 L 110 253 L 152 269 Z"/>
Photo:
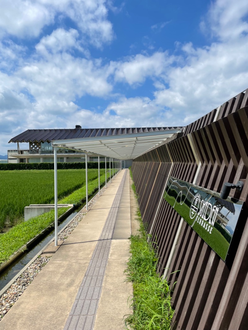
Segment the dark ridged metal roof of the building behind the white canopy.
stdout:
<path fill-rule="evenodd" d="M 126 135 L 146 132 L 162 132 L 183 127 L 136 127 L 136 128 L 73 128 L 73 129 L 28 129 L 12 138 L 10 142 L 51 142 L 54 140 L 78 139 Z"/>

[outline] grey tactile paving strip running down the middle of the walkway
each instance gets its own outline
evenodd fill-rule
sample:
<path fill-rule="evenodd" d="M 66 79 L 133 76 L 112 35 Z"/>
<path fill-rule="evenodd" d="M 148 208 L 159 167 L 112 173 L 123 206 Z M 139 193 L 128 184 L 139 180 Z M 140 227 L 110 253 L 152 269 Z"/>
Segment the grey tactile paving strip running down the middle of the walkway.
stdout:
<path fill-rule="evenodd" d="M 120 182 L 120 186 L 103 226 L 99 241 L 93 252 L 89 266 L 75 298 L 75 302 L 65 323 L 64 330 L 94 329 L 98 303 L 102 292 L 103 278 L 126 173 Z"/>

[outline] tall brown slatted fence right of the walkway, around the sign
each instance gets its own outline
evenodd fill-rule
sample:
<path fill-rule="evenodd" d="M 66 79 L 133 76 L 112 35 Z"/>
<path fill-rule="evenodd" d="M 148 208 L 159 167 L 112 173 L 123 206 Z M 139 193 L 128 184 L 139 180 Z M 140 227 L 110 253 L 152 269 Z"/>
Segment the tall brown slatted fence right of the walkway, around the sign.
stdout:
<path fill-rule="evenodd" d="M 162 276 L 171 285 L 174 327 L 180 330 L 248 329 L 248 89 L 186 126 L 132 165 L 143 221 L 156 242 Z M 224 262 L 164 200 L 168 177 L 221 192 L 244 181 L 244 201 Z"/>

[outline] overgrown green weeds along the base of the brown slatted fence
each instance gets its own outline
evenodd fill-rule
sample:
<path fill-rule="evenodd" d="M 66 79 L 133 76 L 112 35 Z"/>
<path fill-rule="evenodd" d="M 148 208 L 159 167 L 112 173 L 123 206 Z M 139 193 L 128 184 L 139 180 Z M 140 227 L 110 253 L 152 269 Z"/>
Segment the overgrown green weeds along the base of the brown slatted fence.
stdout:
<path fill-rule="evenodd" d="M 127 329 L 169 330 L 174 311 L 171 307 L 170 287 L 166 280 L 156 273 L 158 256 L 147 242 L 141 214 L 138 212 L 140 230 L 130 237 L 132 256 L 127 263 L 128 281 L 133 283 L 131 307 L 133 314 L 125 319 Z"/>

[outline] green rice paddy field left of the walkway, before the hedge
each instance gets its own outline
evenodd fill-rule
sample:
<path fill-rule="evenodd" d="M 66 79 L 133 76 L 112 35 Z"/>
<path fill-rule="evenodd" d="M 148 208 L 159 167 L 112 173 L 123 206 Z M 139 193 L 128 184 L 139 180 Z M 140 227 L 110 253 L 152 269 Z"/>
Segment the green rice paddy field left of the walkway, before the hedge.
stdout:
<path fill-rule="evenodd" d="M 85 169 L 58 170 L 58 199 L 85 186 L 85 174 Z M 100 175 L 105 177 L 105 169 Z M 88 181 L 97 178 L 98 169 L 88 169 Z M 25 206 L 53 203 L 53 170 L 0 171 L 0 230 L 5 223 L 13 226 L 24 215 Z"/>

